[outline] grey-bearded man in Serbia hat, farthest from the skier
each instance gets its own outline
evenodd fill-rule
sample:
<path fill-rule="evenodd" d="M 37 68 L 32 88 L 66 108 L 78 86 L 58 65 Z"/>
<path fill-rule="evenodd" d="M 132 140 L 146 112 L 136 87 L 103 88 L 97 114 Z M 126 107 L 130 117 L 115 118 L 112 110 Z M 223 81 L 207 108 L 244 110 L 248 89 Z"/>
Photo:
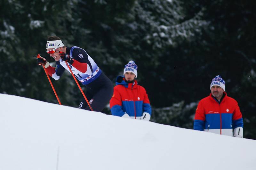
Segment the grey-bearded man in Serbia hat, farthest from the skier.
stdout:
<path fill-rule="evenodd" d="M 216 76 L 210 89 L 210 95 L 198 103 L 194 129 L 242 138 L 242 114 L 236 100 L 225 92 L 225 81 Z"/>

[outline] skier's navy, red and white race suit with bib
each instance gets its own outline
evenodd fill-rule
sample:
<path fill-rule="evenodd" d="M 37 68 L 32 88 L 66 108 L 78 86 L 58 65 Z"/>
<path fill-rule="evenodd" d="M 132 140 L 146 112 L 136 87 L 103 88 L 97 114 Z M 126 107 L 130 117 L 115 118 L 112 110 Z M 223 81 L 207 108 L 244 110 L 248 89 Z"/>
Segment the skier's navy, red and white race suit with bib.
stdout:
<path fill-rule="evenodd" d="M 113 83 L 84 49 L 76 46 L 72 48 L 67 47 L 66 53 L 72 58 L 71 62 L 67 63 L 71 71 L 87 87 L 85 96 L 90 106 L 94 111 L 102 111 L 113 94 Z M 65 70 L 70 72 L 67 64 L 60 59 L 56 62 L 55 68 L 49 66 L 46 68 L 46 71 L 52 78 L 58 80 Z M 82 98 L 78 108 L 90 110 L 84 98 Z"/>

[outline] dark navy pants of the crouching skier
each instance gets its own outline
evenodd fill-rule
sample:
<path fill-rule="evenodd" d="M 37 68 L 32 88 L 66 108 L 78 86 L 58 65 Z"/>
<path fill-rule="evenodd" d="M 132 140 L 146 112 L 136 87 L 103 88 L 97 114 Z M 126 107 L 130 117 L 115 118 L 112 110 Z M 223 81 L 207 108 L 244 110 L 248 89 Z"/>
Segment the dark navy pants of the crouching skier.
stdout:
<path fill-rule="evenodd" d="M 85 86 L 85 96 L 93 111 L 102 111 L 103 108 L 108 104 L 114 92 L 114 86 L 111 80 L 103 72 L 101 72 L 98 78 Z M 78 108 L 91 110 L 84 98 L 79 104 Z"/>

